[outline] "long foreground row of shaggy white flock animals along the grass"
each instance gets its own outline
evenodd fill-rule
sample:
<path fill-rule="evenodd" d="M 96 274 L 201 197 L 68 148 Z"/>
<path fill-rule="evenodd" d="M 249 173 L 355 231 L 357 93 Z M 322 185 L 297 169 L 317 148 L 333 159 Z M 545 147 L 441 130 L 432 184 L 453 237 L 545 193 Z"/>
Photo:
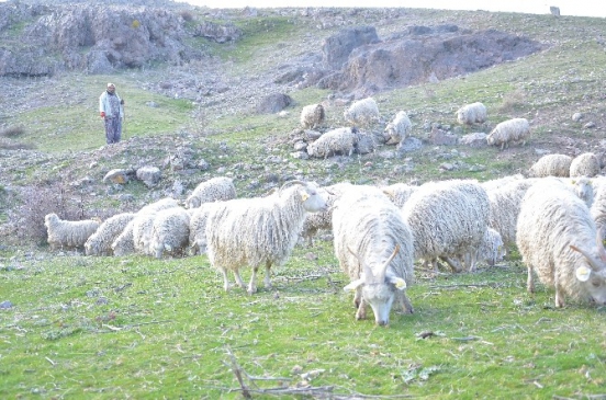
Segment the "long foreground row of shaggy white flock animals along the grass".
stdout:
<path fill-rule="evenodd" d="M 594 165 L 595 156 L 579 157 Z M 206 253 L 225 290 L 233 275 L 250 295 L 259 267 L 271 287 L 271 268 L 284 264 L 299 242 L 310 245 L 328 229 L 350 278 L 345 289 L 355 293 L 356 318 L 366 318 L 370 306 L 380 325 L 389 323 L 394 301 L 413 312 L 406 288 L 414 283 L 415 261 L 471 272 L 500 262 L 513 244 L 528 266 L 529 292 L 536 274 L 554 287 L 557 307 L 564 306 L 564 296 L 604 305 L 606 178 L 570 178 L 573 164 L 565 176 L 518 174 L 482 183 L 319 187 L 289 181 L 252 198 L 236 198 L 233 181 L 220 176 L 200 183 L 183 205 L 167 197 L 102 222 L 49 214 L 45 225 L 52 248 L 83 248 L 87 255 Z M 239 274 L 244 267 L 251 268 L 248 284 Z"/>

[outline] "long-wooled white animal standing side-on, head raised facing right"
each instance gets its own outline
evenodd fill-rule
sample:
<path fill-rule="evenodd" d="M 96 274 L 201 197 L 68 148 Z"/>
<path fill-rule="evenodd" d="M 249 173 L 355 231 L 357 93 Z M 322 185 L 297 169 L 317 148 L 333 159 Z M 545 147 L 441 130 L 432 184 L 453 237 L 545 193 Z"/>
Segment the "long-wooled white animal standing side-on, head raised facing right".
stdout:
<path fill-rule="evenodd" d="M 313 182 L 290 181 L 268 197 L 235 198 L 217 202 L 206 220 L 207 255 L 211 265 L 223 274 L 229 289 L 227 271 L 244 287 L 239 268 L 252 268 L 247 292 L 257 292 L 257 270 L 265 264 L 265 286 L 271 288 L 270 268 L 282 265 L 294 248 L 307 213 L 327 207 L 324 194 Z"/>

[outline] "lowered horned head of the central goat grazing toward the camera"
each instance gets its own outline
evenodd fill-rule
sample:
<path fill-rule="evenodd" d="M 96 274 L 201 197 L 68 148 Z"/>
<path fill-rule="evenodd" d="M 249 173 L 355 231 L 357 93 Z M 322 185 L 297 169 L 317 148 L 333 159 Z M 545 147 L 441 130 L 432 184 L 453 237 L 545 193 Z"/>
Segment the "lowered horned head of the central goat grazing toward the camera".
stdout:
<path fill-rule="evenodd" d="M 351 249 L 349 249 L 349 251 L 356 255 Z M 390 323 L 390 311 L 393 300 L 399 295 L 396 290 L 404 290 L 406 288 L 406 281 L 388 271 L 390 263 L 399 251 L 400 245 L 396 245 L 390 258 L 382 265 L 378 265 L 375 271 L 373 271 L 371 265 L 360 261 L 362 265 L 360 278 L 351 282 L 344 288 L 345 290 L 360 290 L 361 288 L 362 296 L 358 316 L 360 311 L 363 316 L 364 302 L 368 302 L 370 308 L 372 308 L 374 321 L 378 325 L 388 325 Z M 356 255 L 356 258 L 358 258 L 358 255 Z"/>

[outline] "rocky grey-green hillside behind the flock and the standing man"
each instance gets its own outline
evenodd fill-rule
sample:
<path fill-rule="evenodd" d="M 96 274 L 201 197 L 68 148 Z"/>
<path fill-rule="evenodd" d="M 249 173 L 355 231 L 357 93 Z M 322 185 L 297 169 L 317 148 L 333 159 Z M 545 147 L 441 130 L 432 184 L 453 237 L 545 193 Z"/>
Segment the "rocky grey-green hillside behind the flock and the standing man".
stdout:
<path fill-rule="evenodd" d="M 525 172 L 546 152 L 602 152 L 602 34 L 598 19 L 482 11 L 0 3 L 0 241 L 37 245 L 46 212 L 104 218 L 184 197 L 214 175 L 233 176 L 250 196 L 293 178 L 486 180 Z M 90 139 L 98 123 L 82 113 L 94 113 L 99 81 L 114 78 L 127 85 L 135 119 L 126 140 L 100 147 Z M 370 133 L 405 110 L 413 146 L 301 156 L 305 103 L 325 104 L 322 133 L 369 95 L 382 114 Z M 487 105 L 489 123 L 458 126 L 454 111 L 474 101 Z M 159 123 L 137 130 L 144 116 Z M 500 152 L 461 140 L 517 116 L 531 121 L 529 146 Z M 176 127 L 158 130 L 161 117 Z M 148 165 L 161 171 L 152 185 L 136 175 Z M 130 183 L 104 181 L 114 169 Z"/>

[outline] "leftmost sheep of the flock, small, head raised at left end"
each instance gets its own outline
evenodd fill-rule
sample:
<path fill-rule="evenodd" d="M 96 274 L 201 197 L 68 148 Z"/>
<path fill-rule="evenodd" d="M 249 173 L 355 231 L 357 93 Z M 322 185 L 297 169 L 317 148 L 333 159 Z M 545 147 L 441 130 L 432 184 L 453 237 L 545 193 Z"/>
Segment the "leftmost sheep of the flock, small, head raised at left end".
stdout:
<path fill-rule="evenodd" d="M 64 220 L 55 213 L 44 217 L 44 226 L 48 236 L 50 249 L 82 248 L 88 238 L 99 228 L 100 222 L 94 219 Z"/>

